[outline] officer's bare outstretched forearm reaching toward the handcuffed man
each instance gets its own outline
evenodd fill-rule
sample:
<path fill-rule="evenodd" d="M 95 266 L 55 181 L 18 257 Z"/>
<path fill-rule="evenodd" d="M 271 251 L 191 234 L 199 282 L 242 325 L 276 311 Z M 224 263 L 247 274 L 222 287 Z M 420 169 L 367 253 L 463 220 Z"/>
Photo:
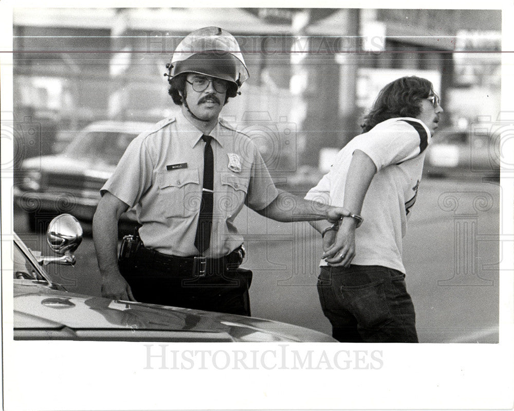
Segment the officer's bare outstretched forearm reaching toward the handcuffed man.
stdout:
<path fill-rule="evenodd" d="M 326 220 L 333 207 L 305 200 L 298 195 L 279 190 L 279 195 L 266 208 L 257 211 L 260 215 L 282 222 Z"/>

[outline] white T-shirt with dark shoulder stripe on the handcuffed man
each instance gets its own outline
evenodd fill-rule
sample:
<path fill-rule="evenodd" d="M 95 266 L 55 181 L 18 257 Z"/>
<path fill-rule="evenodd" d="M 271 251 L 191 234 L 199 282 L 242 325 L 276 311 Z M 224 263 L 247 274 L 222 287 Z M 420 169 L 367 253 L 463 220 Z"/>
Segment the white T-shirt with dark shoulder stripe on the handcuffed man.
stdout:
<path fill-rule="evenodd" d="M 331 170 L 306 199 L 343 206 L 346 175 L 355 150 L 375 163 L 374 175 L 362 205 L 364 222 L 355 230 L 352 264 L 381 265 L 405 273 L 402 237 L 423 171 L 430 130 L 415 118 L 392 118 L 353 138 L 337 154 Z M 320 265 L 327 265 L 321 260 Z"/>

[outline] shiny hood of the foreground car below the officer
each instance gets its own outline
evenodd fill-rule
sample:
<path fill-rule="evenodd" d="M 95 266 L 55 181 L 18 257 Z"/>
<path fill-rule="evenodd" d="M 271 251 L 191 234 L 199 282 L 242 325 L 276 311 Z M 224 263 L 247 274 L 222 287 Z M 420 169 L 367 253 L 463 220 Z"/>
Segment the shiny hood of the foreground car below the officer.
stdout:
<path fill-rule="evenodd" d="M 14 280 L 14 338 L 157 342 L 335 342 L 326 334 L 239 315 L 114 301 Z"/>

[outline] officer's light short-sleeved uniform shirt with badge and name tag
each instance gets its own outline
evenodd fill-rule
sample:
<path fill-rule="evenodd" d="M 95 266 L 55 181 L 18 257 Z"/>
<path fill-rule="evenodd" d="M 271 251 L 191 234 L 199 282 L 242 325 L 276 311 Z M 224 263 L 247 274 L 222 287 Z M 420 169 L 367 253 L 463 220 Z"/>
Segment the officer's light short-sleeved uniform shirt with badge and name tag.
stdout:
<path fill-rule="evenodd" d="M 253 142 L 223 120 L 209 134 L 214 155 L 214 205 L 210 247 L 218 258 L 243 243 L 233 222 L 243 205 L 261 210 L 278 195 Z M 204 176 L 202 133 L 185 117 L 162 120 L 127 147 L 101 189 L 134 208 L 147 248 L 195 256 Z"/>

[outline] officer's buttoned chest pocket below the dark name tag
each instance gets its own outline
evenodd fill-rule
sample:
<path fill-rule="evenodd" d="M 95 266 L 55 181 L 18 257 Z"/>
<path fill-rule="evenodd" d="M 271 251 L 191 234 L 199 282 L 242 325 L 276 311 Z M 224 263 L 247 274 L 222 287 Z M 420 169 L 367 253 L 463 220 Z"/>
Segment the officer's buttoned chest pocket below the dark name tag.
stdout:
<path fill-rule="evenodd" d="M 157 186 L 159 208 L 164 217 L 191 217 L 200 209 L 198 169 L 158 173 Z"/>

